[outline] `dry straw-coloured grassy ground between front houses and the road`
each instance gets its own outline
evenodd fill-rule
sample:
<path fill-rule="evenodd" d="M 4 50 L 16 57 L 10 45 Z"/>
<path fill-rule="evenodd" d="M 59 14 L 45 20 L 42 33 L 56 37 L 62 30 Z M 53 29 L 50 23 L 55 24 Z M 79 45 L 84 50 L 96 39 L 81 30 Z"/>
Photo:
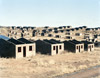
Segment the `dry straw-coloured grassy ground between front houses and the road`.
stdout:
<path fill-rule="evenodd" d="M 100 48 L 94 52 L 49 56 L 37 54 L 28 58 L 0 58 L 0 78 L 52 78 L 91 66 L 100 65 Z"/>

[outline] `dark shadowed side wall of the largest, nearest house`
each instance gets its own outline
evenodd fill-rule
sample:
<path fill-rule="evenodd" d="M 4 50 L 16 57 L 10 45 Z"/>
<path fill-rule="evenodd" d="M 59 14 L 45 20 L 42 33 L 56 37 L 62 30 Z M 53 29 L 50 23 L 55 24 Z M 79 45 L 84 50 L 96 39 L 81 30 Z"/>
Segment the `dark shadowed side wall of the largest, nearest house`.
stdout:
<path fill-rule="evenodd" d="M 0 57 L 15 57 L 15 45 L 5 40 L 0 40 Z"/>

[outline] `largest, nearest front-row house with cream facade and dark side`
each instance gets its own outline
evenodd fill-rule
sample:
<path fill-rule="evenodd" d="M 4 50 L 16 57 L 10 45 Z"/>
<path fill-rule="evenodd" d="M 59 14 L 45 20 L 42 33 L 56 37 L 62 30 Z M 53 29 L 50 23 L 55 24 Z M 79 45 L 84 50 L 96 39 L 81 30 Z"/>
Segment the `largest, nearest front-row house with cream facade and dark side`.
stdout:
<path fill-rule="evenodd" d="M 0 56 L 22 58 L 35 55 L 35 43 L 22 42 L 15 39 L 0 39 Z"/>

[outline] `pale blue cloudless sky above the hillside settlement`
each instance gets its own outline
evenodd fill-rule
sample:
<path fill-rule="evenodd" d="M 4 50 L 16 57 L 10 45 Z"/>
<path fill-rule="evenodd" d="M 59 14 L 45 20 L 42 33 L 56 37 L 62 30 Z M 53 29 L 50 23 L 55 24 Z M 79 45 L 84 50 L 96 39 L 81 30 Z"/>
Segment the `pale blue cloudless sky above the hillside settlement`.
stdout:
<path fill-rule="evenodd" d="M 100 27 L 100 0 L 0 0 L 0 25 Z"/>

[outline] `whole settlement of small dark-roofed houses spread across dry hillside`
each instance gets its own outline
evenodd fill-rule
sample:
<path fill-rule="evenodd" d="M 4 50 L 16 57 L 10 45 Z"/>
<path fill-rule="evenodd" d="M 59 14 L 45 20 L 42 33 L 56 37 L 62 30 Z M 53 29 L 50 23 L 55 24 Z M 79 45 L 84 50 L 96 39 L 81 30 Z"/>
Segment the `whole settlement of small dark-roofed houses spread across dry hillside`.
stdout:
<path fill-rule="evenodd" d="M 0 57 L 93 52 L 95 47 L 100 47 L 100 27 L 0 26 Z"/>

